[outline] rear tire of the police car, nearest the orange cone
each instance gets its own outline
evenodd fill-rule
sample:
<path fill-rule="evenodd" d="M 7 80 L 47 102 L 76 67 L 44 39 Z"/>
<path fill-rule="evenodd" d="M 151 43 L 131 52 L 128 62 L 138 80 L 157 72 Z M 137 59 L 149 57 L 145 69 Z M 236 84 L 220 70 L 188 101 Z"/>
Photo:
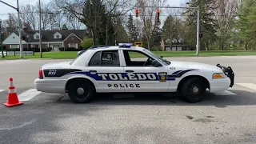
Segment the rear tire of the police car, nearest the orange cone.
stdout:
<path fill-rule="evenodd" d="M 75 79 L 69 83 L 68 94 L 75 103 L 88 103 L 94 98 L 94 86 L 83 79 Z M 80 94 L 79 94 L 80 93 Z"/>

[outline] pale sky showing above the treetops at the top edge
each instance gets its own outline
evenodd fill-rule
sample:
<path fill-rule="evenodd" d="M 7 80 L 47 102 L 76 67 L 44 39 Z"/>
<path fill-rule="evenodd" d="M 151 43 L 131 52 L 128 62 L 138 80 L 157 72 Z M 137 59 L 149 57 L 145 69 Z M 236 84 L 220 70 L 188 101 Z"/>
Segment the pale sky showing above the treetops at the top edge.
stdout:
<path fill-rule="evenodd" d="M 17 7 L 17 0 L 2 0 L 2 2 L 6 2 L 11 6 Z M 10 6 L 6 6 L 0 2 L 0 19 L 4 20 L 8 18 L 8 13 L 17 13 L 16 10 L 11 8 Z M 19 0 L 19 6 L 26 5 L 26 4 L 35 4 L 38 0 Z M 50 0 L 41 0 L 41 2 L 50 2 Z M 186 2 L 186 0 L 166 0 L 166 5 L 169 4 L 170 6 L 180 6 L 180 3 Z"/>

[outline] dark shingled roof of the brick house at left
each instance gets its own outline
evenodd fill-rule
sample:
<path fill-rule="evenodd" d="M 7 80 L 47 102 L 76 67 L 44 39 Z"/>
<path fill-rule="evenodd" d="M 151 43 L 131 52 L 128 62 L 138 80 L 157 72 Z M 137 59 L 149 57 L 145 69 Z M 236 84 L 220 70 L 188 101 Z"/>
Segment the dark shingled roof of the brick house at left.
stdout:
<path fill-rule="evenodd" d="M 54 34 L 56 32 L 62 34 L 62 38 L 54 38 Z M 14 33 L 19 36 L 18 31 L 15 31 Z M 22 30 L 22 37 L 25 37 L 24 41 L 26 42 L 39 42 L 39 39 L 34 39 L 34 34 L 36 33 L 39 34 L 39 30 L 26 32 Z M 41 30 L 42 42 L 63 42 L 63 40 L 72 33 L 78 36 L 78 38 L 83 39 L 85 37 L 86 30 Z"/>

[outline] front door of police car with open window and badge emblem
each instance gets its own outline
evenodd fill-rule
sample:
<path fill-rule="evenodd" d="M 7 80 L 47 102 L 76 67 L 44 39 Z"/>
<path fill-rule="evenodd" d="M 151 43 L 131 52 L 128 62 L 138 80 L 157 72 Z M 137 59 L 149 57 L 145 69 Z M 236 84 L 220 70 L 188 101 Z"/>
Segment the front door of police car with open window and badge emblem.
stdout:
<path fill-rule="evenodd" d="M 151 66 L 155 59 L 140 50 L 122 50 L 122 55 L 126 74 L 125 92 L 168 91 L 167 75 L 170 71 L 165 66 Z M 141 58 L 131 58 L 133 55 Z"/>

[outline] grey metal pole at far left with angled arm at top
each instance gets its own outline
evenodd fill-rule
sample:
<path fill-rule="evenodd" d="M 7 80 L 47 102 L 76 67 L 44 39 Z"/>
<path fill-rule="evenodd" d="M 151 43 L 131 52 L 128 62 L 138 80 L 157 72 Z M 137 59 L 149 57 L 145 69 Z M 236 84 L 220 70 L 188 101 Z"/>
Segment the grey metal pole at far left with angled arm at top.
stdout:
<path fill-rule="evenodd" d="M 0 2 L 2 2 L 0 0 Z M 15 9 L 18 11 L 18 34 L 19 34 L 19 50 L 20 50 L 20 58 L 23 58 L 22 56 L 22 21 L 20 18 L 20 11 L 19 11 L 19 6 L 18 6 L 18 0 L 17 0 L 17 8 L 14 6 L 11 6 L 10 4 L 6 3 L 6 2 L 2 2 L 3 4 L 10 6 L 11 8 Z"/>

